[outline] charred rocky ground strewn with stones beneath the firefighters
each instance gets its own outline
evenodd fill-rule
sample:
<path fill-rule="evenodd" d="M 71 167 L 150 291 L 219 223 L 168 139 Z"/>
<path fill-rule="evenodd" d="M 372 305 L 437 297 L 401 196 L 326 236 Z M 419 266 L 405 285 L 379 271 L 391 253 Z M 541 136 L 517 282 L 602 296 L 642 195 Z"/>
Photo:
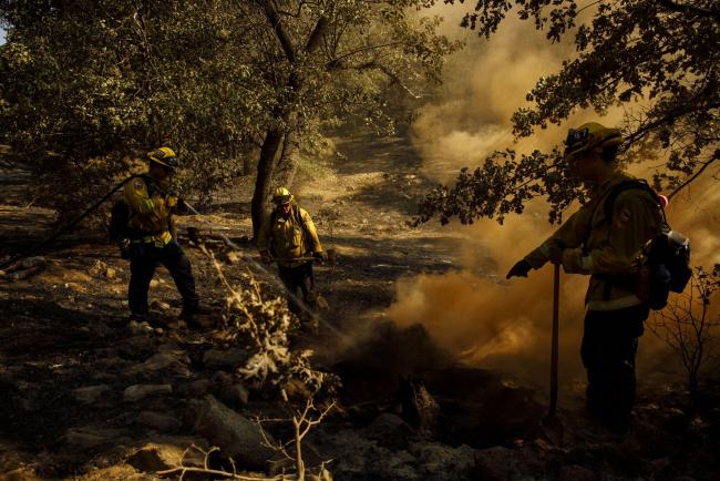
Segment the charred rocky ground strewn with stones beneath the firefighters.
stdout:
<path fill-rule="evenodd" d="M 717 479 L 717 387 L 692 416 L 681 392 L 644 389 L 631 433 L 599 439 L 588 436 L 579 397 L 563 405 L 563 429 L 542 426 L 542 395 L 457 366 L 421 327 L 385 320 L 395 280 L 455 268 L 463 234 L 407 226 L 429 183 L 405 139 L 336 143 L 344 155 L 304 171 L 297 188 L 326 247 L 338 253 L 337 266 L 317 268 L 328 303 L 320 331 L 298 335 L 316 365 L 342 382 L 338 408 L 304 440 L 309 468 L 326 465 L 338 480 Z M 27 196 L 28 173 L 1 167 L 0 255 L 42 238 L 53 219 Z M 239 182 L 181 227 L 200 229 L 230 283 L 247 285 L 251 273 L 274 296 L 272 273 L 245 260 L 255 256 L 248 197 Z M 239 246 L 238 256 L 227 256 L 218 233 Z M 182 239 L 215 310 L 199 330 L 177 321 L 163 269 L 151 287 L 152 328 L 128 326 L 127 264 L 102 236 L 73 233 L 1 273 L 0 479 L 153 480 L 182 462 L 202 467 L 199 450 L 212 447 L 220 452 L 208 457 L 209 469 L 232 470 L 232 457 L 246 478 L 291 471 L 255 421 L 286 419 L 284 403 L 238 375 L 250 352 L 218 327 L 227 294 L 207 258 Z M 287 421 L 263 426 L 268 437 L 291 439 Z"/>

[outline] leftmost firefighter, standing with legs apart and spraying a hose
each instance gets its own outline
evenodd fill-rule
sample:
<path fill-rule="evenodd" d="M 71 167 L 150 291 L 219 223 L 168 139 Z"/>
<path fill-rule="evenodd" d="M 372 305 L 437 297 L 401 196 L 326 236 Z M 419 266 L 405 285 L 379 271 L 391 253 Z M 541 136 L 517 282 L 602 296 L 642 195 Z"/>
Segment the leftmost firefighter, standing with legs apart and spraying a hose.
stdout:
<path fill-rule="evenodd" d="M 144 323 L 147 317 L 147 289 L 158 264 L 173 276 L 183 298 L 182 318 L 188 326 L 197 324 L 199 299 L 191 263 L 177 243 L 173 213 L 183 205 L 171 186 L 179 161 L 169 147 L 147 153 L 146 174 L 125 185 L 124 201 L 130 208 L 127 225 L 130 286 L 127 297 L 131 320 Z M 179 204 L 179 205 L 178 205 Z"/>

